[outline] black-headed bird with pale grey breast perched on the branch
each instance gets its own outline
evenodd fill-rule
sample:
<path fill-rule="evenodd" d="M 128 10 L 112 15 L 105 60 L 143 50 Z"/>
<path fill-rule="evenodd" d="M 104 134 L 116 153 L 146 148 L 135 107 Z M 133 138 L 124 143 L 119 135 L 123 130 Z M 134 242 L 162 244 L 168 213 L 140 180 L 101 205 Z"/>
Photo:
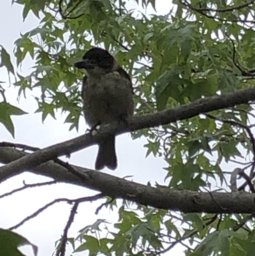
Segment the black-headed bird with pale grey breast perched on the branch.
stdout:
<path fill-rule="evenodd" d="M 131 77 L 108 50 L 92 47 L 85 52 L 76 68 L 84 69 L 82 100 L 86 123 L 93 129 L 98 125 L 126 121 L 133 116 L 133 86 Z M 95 169 L 115 170 L 117 156 L 115 136 L 99 141 Z"/>

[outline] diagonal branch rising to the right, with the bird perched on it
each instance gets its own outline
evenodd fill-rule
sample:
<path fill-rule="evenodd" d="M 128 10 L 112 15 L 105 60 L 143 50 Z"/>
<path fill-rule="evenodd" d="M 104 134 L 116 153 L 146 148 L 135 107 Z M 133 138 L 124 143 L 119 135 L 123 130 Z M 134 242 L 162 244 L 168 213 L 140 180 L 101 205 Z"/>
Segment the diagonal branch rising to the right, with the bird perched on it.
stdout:
<path fill-rule="evenodd" d="M 82 135 L 75 139 L 46 147 L 45 149 L 34 152 L 33 154 L 27 154 L 18 160 L 4 165 L 0 168 L 0 182 L 24 172 L 25 170 L 36 167 L 41 163 L 45 163 L 59 156 L 71 154 L 75 151 L 96 144 L 103 137 L 110 134 L 118 135 L 129 131 L 169 124 L 178 120 L 198 116 L 199 114 L 210 112 L 212 110 L 219 110 L 227 107 L 234 107 L 235 105 L 242 103 L 249 103 L 252 100 L 255 100 L 255 87 L 221 96 L 203 98 L 196 100 L 193 103 L 182 105 L 175 109 L 164 110 L 156 114 L 134 116 L 128 120 L 127 124 L 115 123 L 103 126 L 96 135 L 92 136 L 91 133 Z"/>

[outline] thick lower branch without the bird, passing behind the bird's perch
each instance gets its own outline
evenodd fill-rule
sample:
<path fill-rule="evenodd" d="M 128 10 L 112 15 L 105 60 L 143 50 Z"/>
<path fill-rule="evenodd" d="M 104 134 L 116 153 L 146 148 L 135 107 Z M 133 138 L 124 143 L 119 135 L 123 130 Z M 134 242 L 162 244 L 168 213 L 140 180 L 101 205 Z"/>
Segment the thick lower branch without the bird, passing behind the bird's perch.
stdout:
<path fill-rule="evenodd" d="M 8 163 L 18 157 L 32 155 L 11 149 L 0 147 L 0 162 Z M 145 206 L 157 207 L 182 211 L 184 213 L 254 213 L 254 194 L 237 193 L 201 193 L 187 190 L 170 190 L 169 188 L 153 188 L 143 184 L 127 181 L 118 177 L 96 172 L 77 166 L 73 166 L 84 179 L 71 174 L 61 165 L 49 161 L 29 170 L 35 174 L 52 177 L 56 181 L 77 184 L 85 188 L 99 191 L 112 198 L 122 198 L 143 204 Z"/>

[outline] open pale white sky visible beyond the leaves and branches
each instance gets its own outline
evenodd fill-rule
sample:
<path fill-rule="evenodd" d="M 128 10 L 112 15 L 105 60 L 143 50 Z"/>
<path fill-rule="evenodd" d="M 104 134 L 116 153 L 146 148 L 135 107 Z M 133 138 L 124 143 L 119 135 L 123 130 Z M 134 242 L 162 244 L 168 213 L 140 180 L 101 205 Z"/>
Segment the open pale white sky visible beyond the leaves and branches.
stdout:
<path fill-rule="evenodd" d="M 170 1 L 168 3 L 164 0 L 157 1 L 158 13 L 164 14 L 169 10 Z M 0 45 L 3 45 L 9 53 L 13 52 L 14 41 L 17 40 L 19 34 L 33 29 L 37 24 L 38 19 L 34 18 L 31 14 L 25 22 L 22 22 L 22 7 L 20 5 L 14 4 L 11 6 L 11 0 L 0 1 Z M 13 64 L 15 64 L 15 58 L 11 56 L 11 59 Z M 29 72 L 29 67 L 31 67 L 32 64 L 32 61 L 27 59 L 25 63 L 22 64 L 22 74 Z M 36 147 L 47 147 L 77 137 L 85 131 L 85 122 L 82 120 L 78 133 L 75 130 L 69 132 L 69 124 L 64 124 L 64 117 L 60 114 L 57 115 L 57 120 L 47 117 L 45 123 L 42 124 L 41 114 L 33 114 L 37 107 L 36 102 L 33 100 L 33 93 L 28 93 L 26 99 L 21 97 L 20 102 L 17 102 L 18 90 L 13 89 L 13 86 L 9 87 L 8 77 L 4 68 L 0 69 L 0 77 L 1 81 L 6 81 L 6 98 L 8 101 L 24 111 L 29 112 L 29 114 L 25 116 L 13 117 L 15 139 L 13 139 L 4 126 L 0 124 L 0 141 L 16 142 Z M 145 139 L 131 140 L 130 135 L 117 137 L 119 167 L 115 172 L 110 170 L 104 170 L 104 172 L 118 177 L 133 176 L 133 181 L 138 183 L 146 184 L 148 181 L 151 183 L 157 181 L 157 183 L 163 184 L 165 176 L 163 167 L 166 167 L 166 164 L 163 160 L 154 158 L 153 156 L 149 156 L 145 159 L 147 151 L 143 147 L 145 142 Z M 93 169 L 97 150 L 97 146 L 89 147 L 88 149 L 72 154 L 68 161 L 69 163 Z M 25 173 L 2 183 L 0 186 L 0 195 L 22 186 L 23 181 L 27 184 L 31 184 L 46 180 L 48 179 L 45 177 Z M 15 225 L 27 215 L 31 215 L 31 213 L 38 208 L 59 197 L 75 199 L 94 193 L 95 192 L 91 190 L 68 184 L 33 188 L 16 193 L 11 197 L 5 197 L 0 200 L 0 227 L 8 228 Z M 114 214 L 110 211 L 101 210 L 99 215 L 94 215 L 96 207 L 98 207 L 101 202 L 102 201 L 96 202 L 95 204 L 82 204 L 82 206 L 78 208 L 75 222 L 68 233 L 69 237 L 76 237 L 78 230 L 94 223 L 98 218 L 107 218 L 108 221 L 112 223 L 115 222 L 117 211 L 115 211 Z M 70 208 L 68 204 L 59 203 L 50 207 L 33 220 L 26 222 L 15 231 L 38 246 L 39 256 L 52 255 L 55 248 L 55 241 L 61 237 L 68 220 Z M 109 215 L 111 215 L 111 218 L 108 218 Z M 173 253 L 173 255 L 177 255 L 178 253 L 178 255 L 181 256 L 184 255 L 184 253 L 182 253 L 183 250 L 181 246 L 175 246 L 171 253 Z M 22 252 L 27 253 L 27 255 L 33 255 L 31 248 L 27 246 L 22 248 Z M 71 250 L 68 252 L 71 252 Z M 68 253 L 66 255 L 68 255 Z"/>

